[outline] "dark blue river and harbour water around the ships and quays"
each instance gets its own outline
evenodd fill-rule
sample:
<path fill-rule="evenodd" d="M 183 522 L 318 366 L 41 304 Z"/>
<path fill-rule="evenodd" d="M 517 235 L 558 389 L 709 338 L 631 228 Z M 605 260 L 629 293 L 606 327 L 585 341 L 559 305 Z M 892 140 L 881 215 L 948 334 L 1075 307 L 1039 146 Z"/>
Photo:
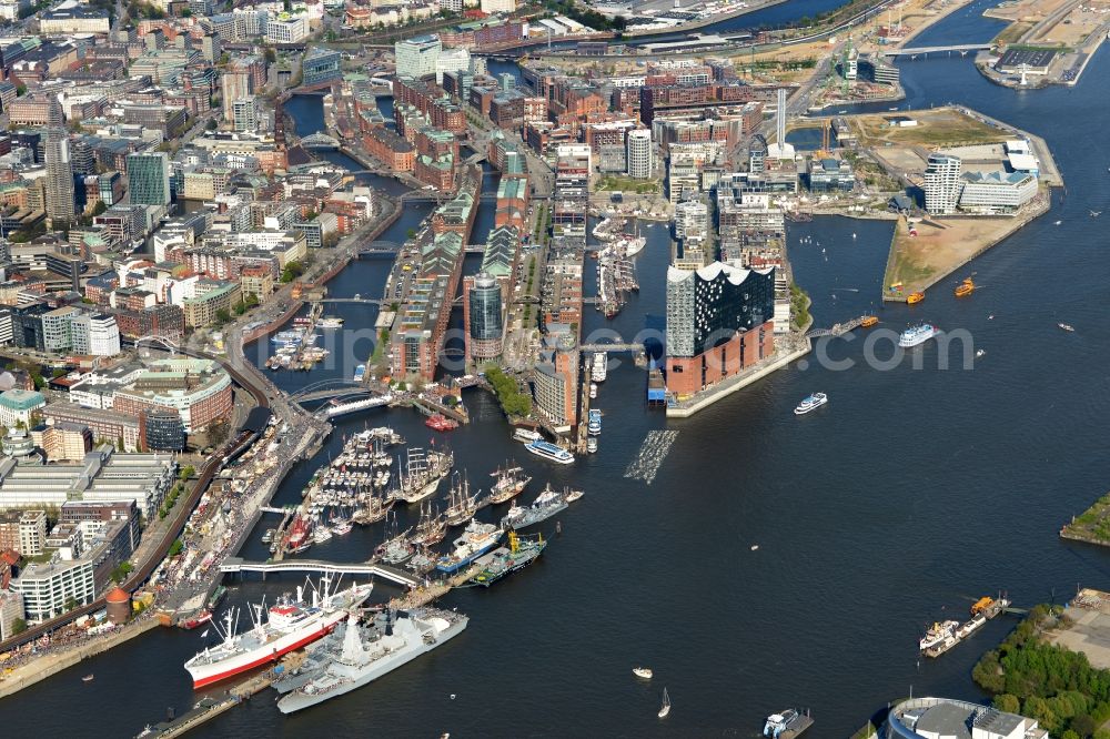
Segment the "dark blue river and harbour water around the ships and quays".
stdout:
<path fill-rule="evenodd" d="M 921 41 L 990 38 L 997 23 L 978 17 L 982 7 Z M 1074 89 L 1036 92 L 995 87 L 958 54 L 899 65 L 912 107 L 961 102 L 1043 136 L 1067 196 L 1058 192 L 1049 214 L 969 265 L 979 287 L 962 301 L 951 295 L 961 272 L 920 305 L 880 305 L 891 234 L 885 221 L 791 224 L 795 277 L 814 300 L 816 325 L 864 313 L 895 331 L 929 321 L 967 332 L 985 350 L 972 367 L 959 361 L 940 370 L 930 342 L 892 368 L 872 368 L 866 357 L 872 350 L 888 357 L 890 342 L 869 348 L 859 333 L 830 342 L 825 360 L 811 354 L 693 418 L 667 422 L 645 407 L 644 372 L 622 362 L 598 392 L 598 453 L 567 467 L 525 454 L 492 398 L 466 391 L 474 423 L 437 435 L 436 446 L 450 444 L 456 467 L 486 489 L 488 473 L 515 457 L 535 478 L 524 500 L 547 482 L 584 489 L 557 516 L 562 535 L 556 519 L 545 522 L 538 530 L 552 543 L 537 563 L 488 590 L 445 597 L 443 606 L 471 621 L 443 648 L 292 717 L 261 694 L 195 736 L 312 737 L 322 728 L 336 737 L 753 736 L 768 713 L 799 707 L 813 710 L 811 736 L 845 737 L 910 692 L 980 697 L 971 667 L 1015 617 L 922 660 L 917 639 L 934 620 L 959 618 L 998 590 L 1029 607 L 1066 599 L 1077 584 L 1106 587 L 1110 554 L 1062 543 L 1057 532 L 1107 489 L 1104 237 L 1089 213 L 1110 211 L 1107 52 Z M 383 239 L 403 241 L 421 212 L 406 207 Z M 669 240 L 662 225 L 645 235 L 639 294 L 613 321 L 587 308 L 587 335 L 612 327 L 630 337 L 662 326 Z M 330 293 L 377 297 L 387 270 L 384 260 L 357 262 Z M 327 313 L 347 321 L 335 332 L 339 348 L 376 310 L 336 304 Z M 356 353 L 370 351 L 367 341 Z M 831 368 L 840 361 L 854 366 Z M 274 377 L 295 389 L 346 372 Z M 828 405 L 796 417 L 797 402 L 818 391 Z M 394 426 L 420 446 L 434 434 L 410 411 L 344 418 L 275 503 L 300 500 L 343 435 L 367 424 Z M 662 431 L 677 432 L 669 448 Z M 630 472 L 638 476 L 626 477 L 637 459 Z M 505 508 L 478 517 L 493 520 Z M 400 518 L 402 527 L 414 519 L 406 510 Z M 263 519 L 244 557 L 268 556 L 265 528 Z M 356 527 L 305 556 L 362 561 L 381 538 L 381 525 Z M 299 581 L 236 581 L 228 603 L 272 600 Z M 379 584 L 374 599 L 395 593 Z M 196 631 L 154 630 L 0 701 L 0 726 L 11 736 L 132 736 L 164 718 L 165 707 L 180 713 L 196 699 L 181 664 L 204 644 Z M 654 670 L 650 682 L 633 677 L 639 665 Z M 82 684 L 89 672 L 95 680 Z M 664 687 L 674 708 L 660 721 Z"/>

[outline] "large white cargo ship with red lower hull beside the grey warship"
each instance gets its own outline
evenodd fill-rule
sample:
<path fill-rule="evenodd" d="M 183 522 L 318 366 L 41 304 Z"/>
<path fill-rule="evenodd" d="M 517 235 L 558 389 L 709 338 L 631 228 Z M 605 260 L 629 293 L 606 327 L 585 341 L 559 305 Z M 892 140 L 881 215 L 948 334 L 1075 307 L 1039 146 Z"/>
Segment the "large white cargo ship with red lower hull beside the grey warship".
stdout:
<path fill-rule="evenodd" d="M 264 605 L 252 606 L 254 626 L 242 634 L 235 634 L 238 609 L 229 609 L 222 624 L 213 624 L 223 641 L 198 652 L 185 662 L 185 669 L 193 678 L 193 688 L 203 688 L 275 661 L 282 655 L 330 634 L 336 624 L 346 618 L 349 609 L 370 597 L 373 588 L 370 584 L 352 585 L 346 590 L 330 593 L 330 585 L 326 576 L 320 579 L 320 587 L 312 588 L 311 606 L 304 601 L 301 587 L 296 589 L 295 599 L 283 596 L 269 609 Z"/>

